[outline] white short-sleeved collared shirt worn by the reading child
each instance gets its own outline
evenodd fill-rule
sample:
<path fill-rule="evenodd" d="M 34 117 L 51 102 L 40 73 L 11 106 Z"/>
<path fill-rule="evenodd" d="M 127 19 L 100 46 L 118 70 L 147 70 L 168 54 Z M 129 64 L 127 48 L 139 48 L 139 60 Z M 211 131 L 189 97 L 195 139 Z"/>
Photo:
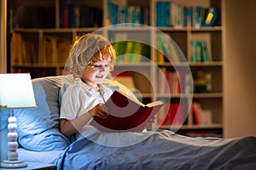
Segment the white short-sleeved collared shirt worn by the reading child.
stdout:
<path fill-rule="evenodd" d="M 79 78 L 78 81 L 67 88 L 62 96 L 60 118 L 73 120 L 90 111 L 95 105 L 105 103 L 113 94 L 113 90 L 102 84 L 99 84 L 99 88 L 99 92 L 96 92 Z M 88 123 L 79 130 L 79 133 L 84 133 L 91 128 L 94 127 Z"/>

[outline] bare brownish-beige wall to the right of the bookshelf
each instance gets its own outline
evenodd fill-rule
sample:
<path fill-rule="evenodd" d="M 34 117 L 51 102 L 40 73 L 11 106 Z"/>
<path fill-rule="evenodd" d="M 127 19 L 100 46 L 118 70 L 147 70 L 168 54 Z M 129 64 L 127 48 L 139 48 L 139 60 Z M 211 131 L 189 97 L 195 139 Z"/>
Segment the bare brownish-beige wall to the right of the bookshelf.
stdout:
<path fill-rule="evenodd" d="M 225 6 L 224 137 L 256 136 L 256 1 Z"/>

